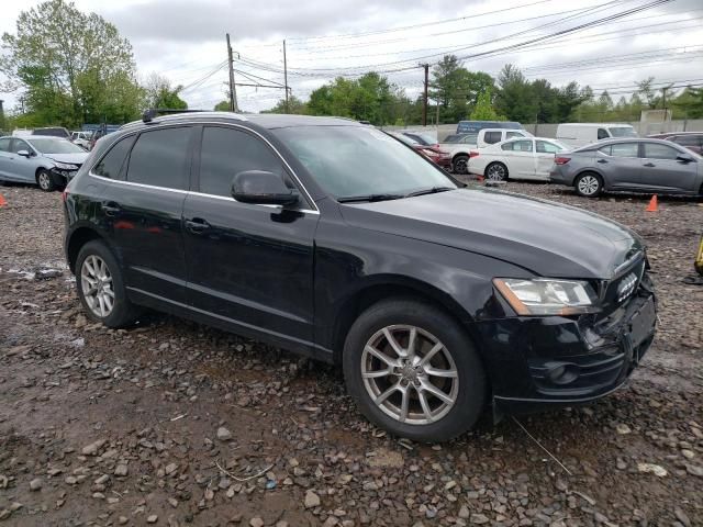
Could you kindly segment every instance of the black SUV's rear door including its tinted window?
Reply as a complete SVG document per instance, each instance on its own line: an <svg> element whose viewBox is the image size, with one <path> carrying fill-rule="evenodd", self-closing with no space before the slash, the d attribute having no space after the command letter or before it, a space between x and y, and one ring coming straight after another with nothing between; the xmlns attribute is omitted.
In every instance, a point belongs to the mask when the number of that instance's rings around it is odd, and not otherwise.
<svg viewBox="0 0 703 527"><path fill-rule="evenodd" d="M132 294L156 301L186 302L186 258L181 232L183 201L190 186L193 127L147 130L115 144L115 159L96 166L112 176L101 208ZM132 144L133 143L133 144ZM119 149L131 149L120 162ZM108 162L109 161L109 162ZM102 161L101 161L102 162Z"/></svg>

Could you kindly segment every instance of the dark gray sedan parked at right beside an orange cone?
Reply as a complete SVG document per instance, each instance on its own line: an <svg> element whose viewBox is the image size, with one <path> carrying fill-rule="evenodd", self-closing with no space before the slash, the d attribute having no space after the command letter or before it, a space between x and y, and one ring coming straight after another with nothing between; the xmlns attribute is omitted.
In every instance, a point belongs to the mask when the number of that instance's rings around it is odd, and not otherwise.
<svg viewBox="0 0 703 527"><path fill-rule="evenodd" d="M557 155L549 180L587 198L603 191L701 195L703 157L662 139L599 141Z"/></svg>

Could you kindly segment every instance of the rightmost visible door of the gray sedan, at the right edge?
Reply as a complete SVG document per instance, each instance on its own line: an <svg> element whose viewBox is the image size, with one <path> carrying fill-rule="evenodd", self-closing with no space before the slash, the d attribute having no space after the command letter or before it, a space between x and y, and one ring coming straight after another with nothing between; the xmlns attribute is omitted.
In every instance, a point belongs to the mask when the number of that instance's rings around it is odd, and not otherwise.
<svg viewBox="0 0 703 527"><path fill-rule="evenodd" d="M681 161L683 149L660 143L641 144L641 184L648 189L693 192L698 178L698 162ZM688 154L690 156L690 154Z"/></svg>

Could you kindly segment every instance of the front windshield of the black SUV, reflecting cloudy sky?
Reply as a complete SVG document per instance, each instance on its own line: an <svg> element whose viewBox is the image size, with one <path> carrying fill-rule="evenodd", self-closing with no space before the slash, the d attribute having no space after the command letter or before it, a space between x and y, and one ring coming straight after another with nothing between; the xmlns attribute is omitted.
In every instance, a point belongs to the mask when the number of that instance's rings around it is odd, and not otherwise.
<svg viewBox="0 0 703 527"><path fill-rule="evenodd" d="M422 155L376 128L294 126L272 132L336 199L458 188Z"/></svg>

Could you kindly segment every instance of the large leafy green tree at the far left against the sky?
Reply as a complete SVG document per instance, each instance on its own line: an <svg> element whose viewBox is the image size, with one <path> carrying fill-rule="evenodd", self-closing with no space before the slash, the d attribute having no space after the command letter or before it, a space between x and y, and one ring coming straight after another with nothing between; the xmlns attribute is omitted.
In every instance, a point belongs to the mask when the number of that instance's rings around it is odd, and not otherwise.
<svg viewBox="0 0 703 527"><path fill-rule="evenodd" d="M15 34L2 35L2 48L0 71L24 90L27 112L42 124L76 126L140 113L132 46L114 25L72 2L48 0L23 11Z"/></svg>

